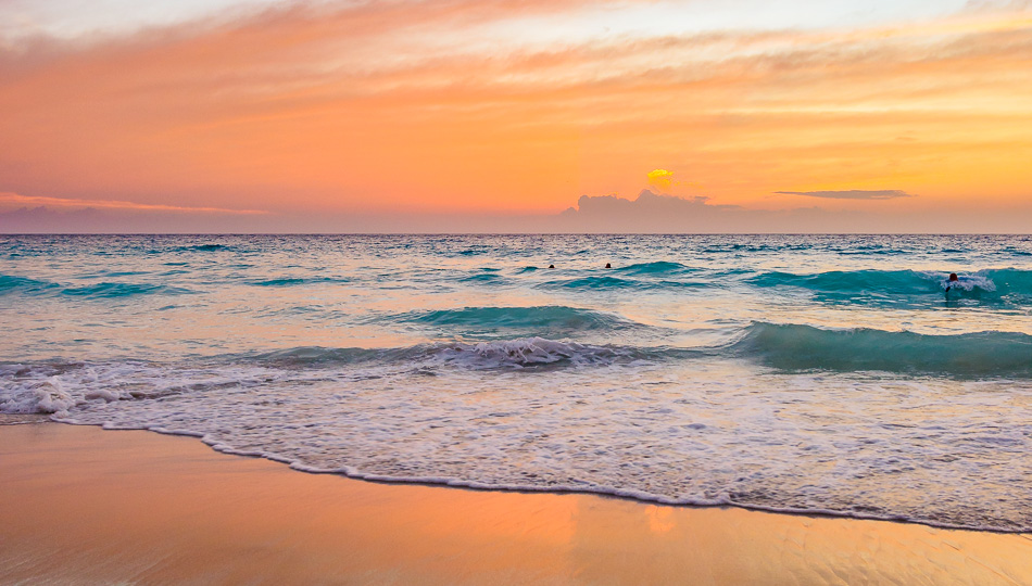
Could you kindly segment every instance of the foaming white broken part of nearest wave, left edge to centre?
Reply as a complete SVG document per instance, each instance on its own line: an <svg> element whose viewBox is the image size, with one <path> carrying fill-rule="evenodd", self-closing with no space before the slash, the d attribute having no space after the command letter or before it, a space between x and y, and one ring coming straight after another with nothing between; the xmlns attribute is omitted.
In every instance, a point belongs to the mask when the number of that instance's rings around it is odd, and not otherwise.
<svg viewBox="0 0 1032 586"><path fill-rule="evenodd" d="M663 351L578 344L543 337L480 343L433 343L395 348L302 346L259 354L225 355L189 365L141 362L0 364L0 413L58 413L91 400L151 399L183 392L256 386L289 380L327 380L322 371L365 367L358 379L435 369L549 370L564 367L633 365Z"/></svg>

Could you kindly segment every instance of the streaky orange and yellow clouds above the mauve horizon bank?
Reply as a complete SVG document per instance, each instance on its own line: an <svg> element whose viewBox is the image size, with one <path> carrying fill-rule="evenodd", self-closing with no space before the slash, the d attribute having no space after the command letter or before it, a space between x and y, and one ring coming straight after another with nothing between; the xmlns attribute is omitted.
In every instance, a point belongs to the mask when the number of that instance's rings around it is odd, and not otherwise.
<svg viewBox="0 0 1032 586"><path fill-rule="evenodd" d="M743 207L792 184L921 194L795 192L828 207L1028 201L1027 3L915 26L659 34L603 25L666 3L603 4L302 2L0 43L0 190L237 214L529 214L633 193L659 169L654 187L691 178Z"/></svg>

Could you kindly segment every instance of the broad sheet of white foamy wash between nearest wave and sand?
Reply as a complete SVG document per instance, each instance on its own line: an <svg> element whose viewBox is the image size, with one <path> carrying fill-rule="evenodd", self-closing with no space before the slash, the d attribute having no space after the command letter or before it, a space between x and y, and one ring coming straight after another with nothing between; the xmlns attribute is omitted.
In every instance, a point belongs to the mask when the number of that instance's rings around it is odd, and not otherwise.
<svg viewBox="0 0 1032 586"><path fill-rule="evenodd" d="M1032 528L1029 382L411 366L23 367L0 405L360 479Z"/></svg>

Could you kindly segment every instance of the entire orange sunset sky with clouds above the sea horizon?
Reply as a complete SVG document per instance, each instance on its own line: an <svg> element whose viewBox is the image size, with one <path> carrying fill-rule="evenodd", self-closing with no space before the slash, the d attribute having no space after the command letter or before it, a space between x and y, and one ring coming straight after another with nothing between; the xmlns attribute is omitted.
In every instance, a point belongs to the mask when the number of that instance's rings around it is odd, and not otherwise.
<svg viewBox="0 0 1032 586"><path fill-rule="evenodd" d="M1029 232L1032 1L0 0L0 231Z"/></svg>

